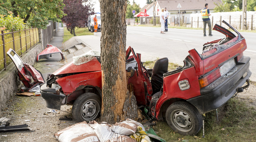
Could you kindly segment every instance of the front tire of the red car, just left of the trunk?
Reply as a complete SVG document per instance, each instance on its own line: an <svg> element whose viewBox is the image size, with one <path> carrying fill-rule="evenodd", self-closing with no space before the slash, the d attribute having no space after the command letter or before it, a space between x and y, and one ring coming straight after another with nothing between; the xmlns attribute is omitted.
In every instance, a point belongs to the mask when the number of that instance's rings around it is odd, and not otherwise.
<svg viewBox="0 0 256 142"><path fill-rule="evenodd" d="M100 115L101 102L101 98L94 93L78 96L72 107L73 119L77 122L95 120Z"/></svg>

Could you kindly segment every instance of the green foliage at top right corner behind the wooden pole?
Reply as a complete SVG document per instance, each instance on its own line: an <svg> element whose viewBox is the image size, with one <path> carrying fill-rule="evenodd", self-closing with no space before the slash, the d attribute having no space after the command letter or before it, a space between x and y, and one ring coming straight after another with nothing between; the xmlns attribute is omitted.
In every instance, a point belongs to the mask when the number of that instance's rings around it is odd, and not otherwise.
<svg viewBox="0 0 256 142"><path fill-rule="evenodd" d="M222 0L222 3L214 3L216 7L214 12L232 12L232 11L242 11L243 0ZM256 10L256 0L247 0L247 11Z"/></svg>

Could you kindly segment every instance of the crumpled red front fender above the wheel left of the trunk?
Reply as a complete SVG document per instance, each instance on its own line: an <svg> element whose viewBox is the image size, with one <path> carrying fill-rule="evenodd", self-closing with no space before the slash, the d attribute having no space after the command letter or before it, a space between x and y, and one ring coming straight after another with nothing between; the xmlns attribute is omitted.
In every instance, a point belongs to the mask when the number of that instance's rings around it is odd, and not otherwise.
<svg viewBox="0 0 256 142"><path fill-rule="evenodd" d="M63 93L69 96L74 91L79 90L80 88L78 87L83 87L88 84L102 88L102 71L70 75L57 79L56 82L62 86Z"/></svg>

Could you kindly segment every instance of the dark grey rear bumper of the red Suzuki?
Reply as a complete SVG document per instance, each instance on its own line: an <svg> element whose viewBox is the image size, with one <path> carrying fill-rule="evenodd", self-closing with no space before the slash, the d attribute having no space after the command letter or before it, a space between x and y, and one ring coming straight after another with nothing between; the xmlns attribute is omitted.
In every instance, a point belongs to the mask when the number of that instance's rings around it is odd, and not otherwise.
<svg viewBox="0 0 256 142"><path fill-rule="evenodd" d="M225 104L236 92L238 87L242 87L252 72L249 70L249 57L244 57L235 68L232 75L223 77L209 84L200 90L201 95L188 99L201 114L210 112ZM243 75L247 75L243 78Z"/></svg>

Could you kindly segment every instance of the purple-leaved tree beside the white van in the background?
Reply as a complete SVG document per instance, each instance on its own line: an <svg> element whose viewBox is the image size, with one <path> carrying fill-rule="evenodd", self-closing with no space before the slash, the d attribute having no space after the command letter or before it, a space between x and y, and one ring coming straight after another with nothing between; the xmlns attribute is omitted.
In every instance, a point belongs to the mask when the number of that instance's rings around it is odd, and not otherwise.
<svg viewBox="0 0 256 142"><path fill-rule="evenodd" d="M67 29L76 36L75 27L83 28L87 25L89 15L94 14L93 5L90 0L63 0L65 16L62 22L67 25Z"/></svg>

